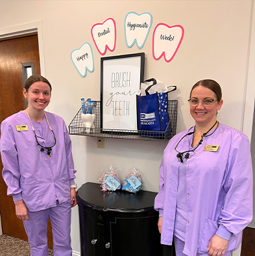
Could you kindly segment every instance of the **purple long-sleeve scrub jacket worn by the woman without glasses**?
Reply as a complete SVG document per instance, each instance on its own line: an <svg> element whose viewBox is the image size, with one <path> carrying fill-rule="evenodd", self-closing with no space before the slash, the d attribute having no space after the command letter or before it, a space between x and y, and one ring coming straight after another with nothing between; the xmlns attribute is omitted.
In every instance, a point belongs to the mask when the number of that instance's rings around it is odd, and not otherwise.
<svg viewBox="0 0 255 256"><path fill-rule="evenodd" d="M31 212L41 211L70 200L70 185L75 184L75 172L71 153L71 140L64 120L46 112L49 125L56 137L51 157L37 146L27 114L20 111L1 123L1 158L3 179L7 194L14 201L23 199ZM42 122L34 122L38 142L53 146L55 140L45 116ZM27 125L28 131L18 131L16 125Z"/></svg>

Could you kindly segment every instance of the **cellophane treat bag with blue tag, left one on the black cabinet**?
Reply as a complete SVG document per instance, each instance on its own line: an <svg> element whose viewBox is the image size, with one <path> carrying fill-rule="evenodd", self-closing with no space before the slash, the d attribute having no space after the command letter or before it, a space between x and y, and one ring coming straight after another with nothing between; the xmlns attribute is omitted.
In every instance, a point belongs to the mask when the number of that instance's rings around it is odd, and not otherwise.
<svg viewBox="0 0 255 256"><path fill-rule="evenodd" d="M101 191L115 191L121 189L121 182L117 174L117 167L111 164L109 169L103 169L102 175L97 181L101 182Z"/></svg>

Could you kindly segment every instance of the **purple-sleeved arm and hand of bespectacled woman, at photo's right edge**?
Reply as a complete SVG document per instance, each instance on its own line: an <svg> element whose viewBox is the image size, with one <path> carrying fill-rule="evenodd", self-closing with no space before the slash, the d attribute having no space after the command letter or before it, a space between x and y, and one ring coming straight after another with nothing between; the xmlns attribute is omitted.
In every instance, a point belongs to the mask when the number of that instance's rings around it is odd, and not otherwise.
<svg viewBox="0 0 255 256"><path fill-rule="evenodd" d="M208 255L224 254L230 236L237 235L252 220L252 163L249 140L244 134L233 140L223 188L225 204L219 229L208 244Z"/></svg>

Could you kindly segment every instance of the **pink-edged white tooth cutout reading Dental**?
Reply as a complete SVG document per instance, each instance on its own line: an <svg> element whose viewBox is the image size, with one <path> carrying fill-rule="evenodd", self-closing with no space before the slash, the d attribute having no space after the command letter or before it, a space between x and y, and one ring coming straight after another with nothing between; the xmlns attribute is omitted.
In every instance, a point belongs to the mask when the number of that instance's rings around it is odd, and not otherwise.
<svg viewBox="0 0 255 256"><path fill-rule="evenodd" d="M91 28L91 35L101 55L105 55L106 50L114 51L116 45L116 24L114 19L109 18L104 23L97 23Z"/></svg>

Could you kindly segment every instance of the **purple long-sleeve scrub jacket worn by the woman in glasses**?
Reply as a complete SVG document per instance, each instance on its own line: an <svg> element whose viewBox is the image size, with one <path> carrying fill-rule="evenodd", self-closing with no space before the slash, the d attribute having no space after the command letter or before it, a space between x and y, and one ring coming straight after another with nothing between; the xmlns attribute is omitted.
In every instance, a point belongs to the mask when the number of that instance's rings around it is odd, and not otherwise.
<svg viewBox="0 0 255 256"><path fill-rule="evenodd" d="M189 129L193 131L194 127ZM242 231L252 220L252 160L247 136L219 124L189 159L178 161L176 144L188 131L176 134L165 148L160 165L160 188L154 207L162 219L161 243L173 242L178 172L186 167L188 217L184 253L195 256L207 253L210 239L221 228L230 233L226 251L237 250ZM192 135L178 145L180 152L189 150ZM219 146L216 152L204 151L207 145ZM224 233L224 232L221 232ZM218 235L218 234L217 234Z"/></svg>

